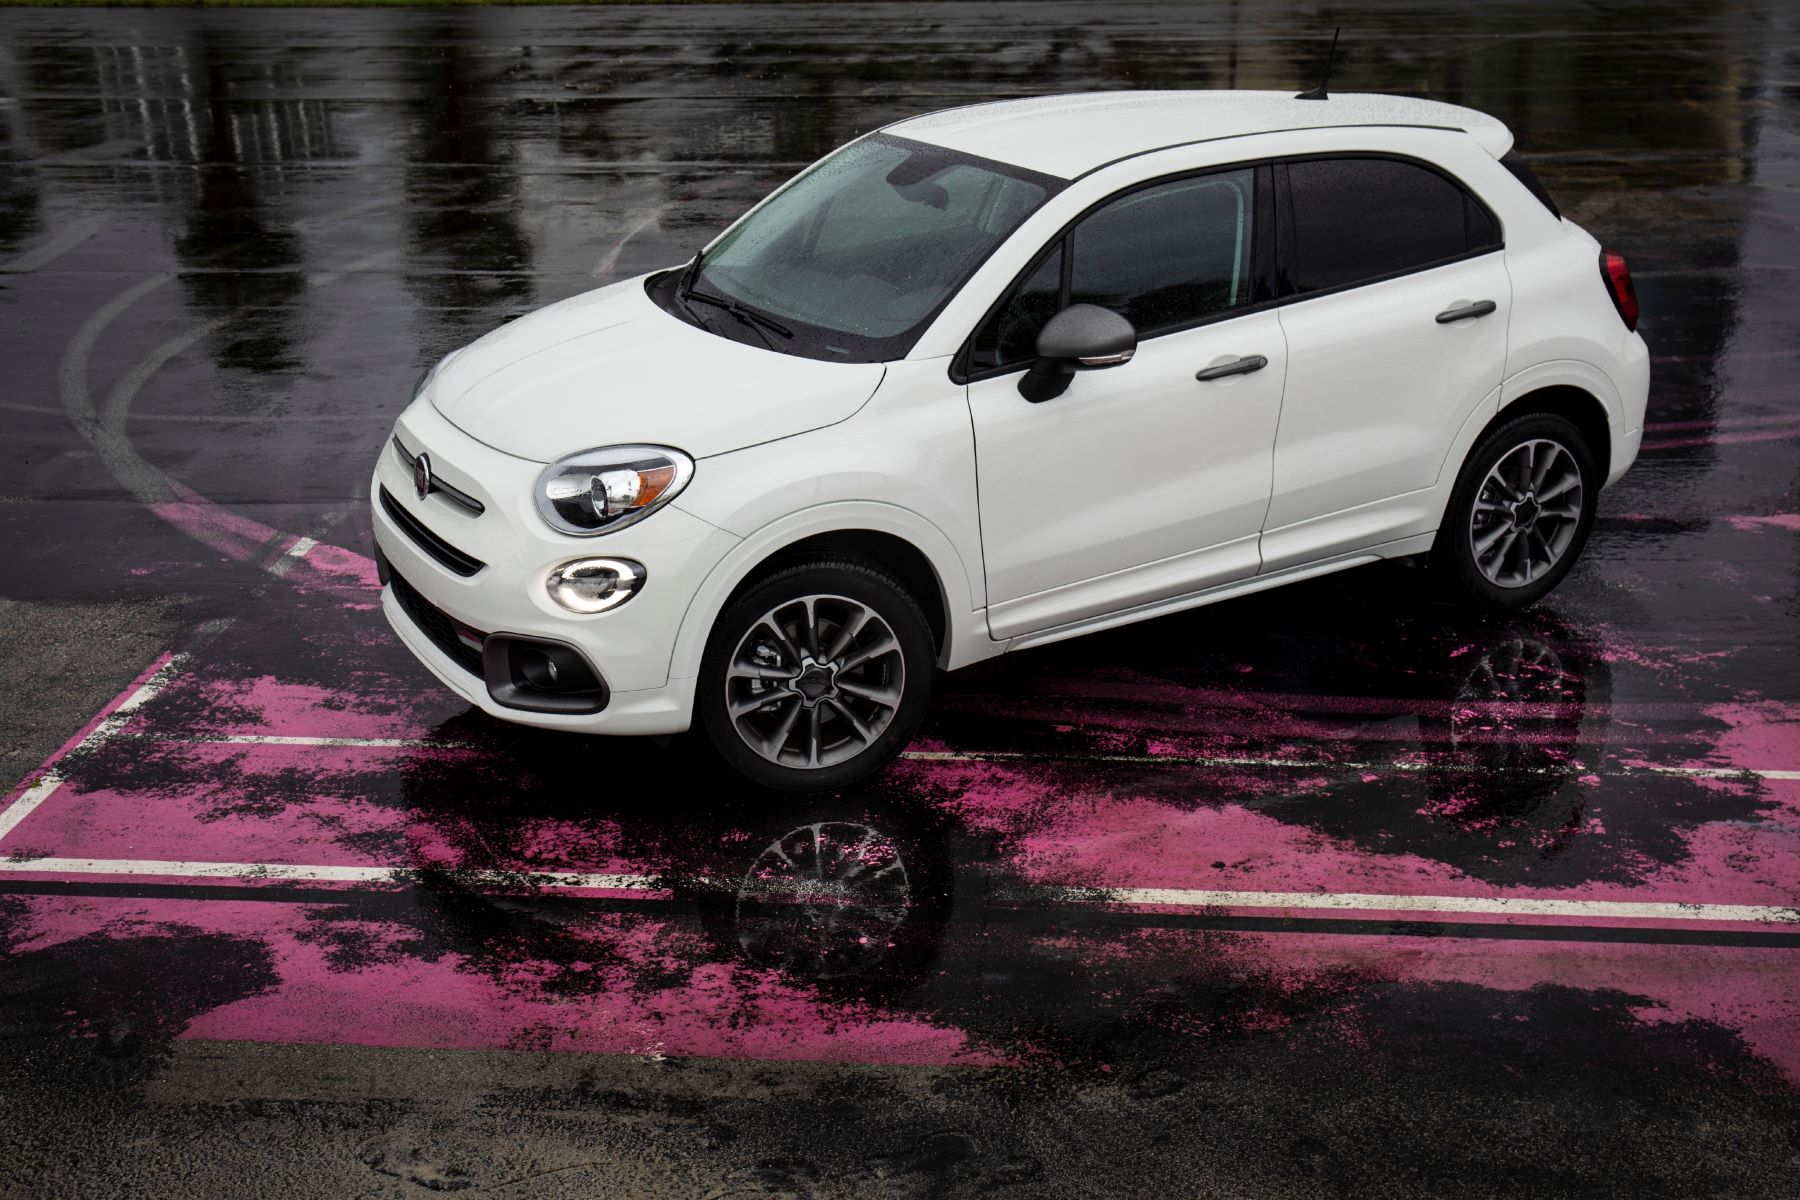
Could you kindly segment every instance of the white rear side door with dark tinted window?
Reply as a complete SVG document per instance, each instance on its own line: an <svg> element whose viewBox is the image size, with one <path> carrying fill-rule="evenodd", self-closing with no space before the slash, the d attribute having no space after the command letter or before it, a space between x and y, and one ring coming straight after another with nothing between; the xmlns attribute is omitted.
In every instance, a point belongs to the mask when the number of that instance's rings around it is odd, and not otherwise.
<svg viewBox="0 0 1800 1200"><path fill-rule="evenodd" d="M1287 390L1262 569L1435 525L1463 423L1498 403L1512 286L1496 218L1413 158L1274 167Z"/></svg>

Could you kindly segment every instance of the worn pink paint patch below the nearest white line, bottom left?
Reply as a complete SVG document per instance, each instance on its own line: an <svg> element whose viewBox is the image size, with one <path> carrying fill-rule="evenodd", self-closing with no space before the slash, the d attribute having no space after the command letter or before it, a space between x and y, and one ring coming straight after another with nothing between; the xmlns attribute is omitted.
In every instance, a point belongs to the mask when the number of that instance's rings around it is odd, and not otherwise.
<svg viewBox="0 0 1800 1200"><path fill-rule="evenodd" d="M279 982L196 1016L185 1038L540 1049L891 1065L1001 1065L954 1025L832 1000L776 972L713 963L709 943L659 919L596 916L556 963L416 950L333 961L310 909L248 901L32 900L29 954L85 934L133 937L178 923L263 945ZM405 946L409 925L373 925ZM369 928L358 928L369 934ZM583 950L587 946L587 950ZM581 957L585 955L585 959ZM572 986L572 977L583 977ZM554 986L551 981L554 979ZM646 982L653 979L653 982Z"/></svg>

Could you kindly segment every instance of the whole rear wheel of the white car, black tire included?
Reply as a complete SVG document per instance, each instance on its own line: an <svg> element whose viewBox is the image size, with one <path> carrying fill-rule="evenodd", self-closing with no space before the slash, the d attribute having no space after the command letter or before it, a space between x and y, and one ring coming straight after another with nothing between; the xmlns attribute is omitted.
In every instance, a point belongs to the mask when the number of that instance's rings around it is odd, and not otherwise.
<svg viewBox="0 0 1800 1200"><path fill-rule="evenodd" d="M1454 597L1485 608L1541 599L1588 543L1600 482L1573 421L1546 412L1507 421L1476 444L1456 477L1431 547L1438 579Z"/></svg>

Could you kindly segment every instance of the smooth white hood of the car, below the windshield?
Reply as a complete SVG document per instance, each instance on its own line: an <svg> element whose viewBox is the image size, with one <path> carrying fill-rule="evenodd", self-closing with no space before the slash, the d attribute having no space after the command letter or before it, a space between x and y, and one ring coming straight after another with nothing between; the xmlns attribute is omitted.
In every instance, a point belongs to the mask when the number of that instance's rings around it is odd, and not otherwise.
<svg viewBox="0 0 1800 1200"><path fill-rule="evenodd" d="M520 459L626 443L704 459L835 425L882 374L880 363L817 362L706 333L632 279L472 342L445 360L428 396L464 434Z"/></svg>

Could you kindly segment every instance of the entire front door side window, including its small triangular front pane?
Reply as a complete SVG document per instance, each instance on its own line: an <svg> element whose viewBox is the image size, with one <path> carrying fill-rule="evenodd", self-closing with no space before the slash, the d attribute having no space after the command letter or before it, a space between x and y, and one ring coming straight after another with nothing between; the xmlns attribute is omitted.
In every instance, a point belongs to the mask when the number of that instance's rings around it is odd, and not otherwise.
<svg viewBox="0 0 1800 1200"><path fill-rule="evenodd" d="M1156 184L1096 209L981 326L970 371L1030 362L1039 329L1067 304L1111 308L1141 338L1251 304L1253 201L1255 171L1244 169Z"/></svg>

